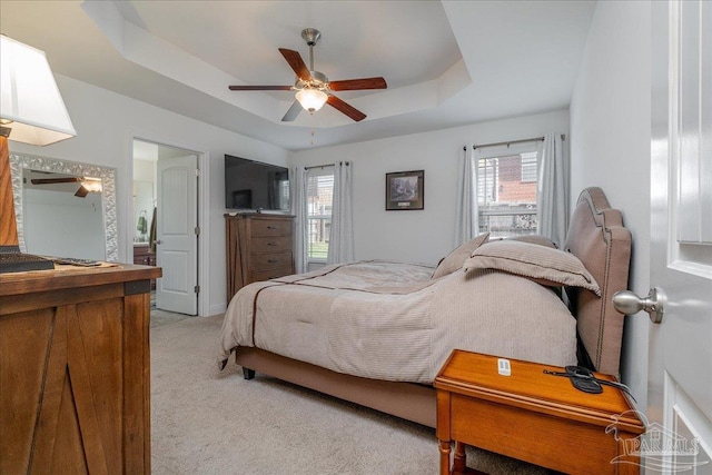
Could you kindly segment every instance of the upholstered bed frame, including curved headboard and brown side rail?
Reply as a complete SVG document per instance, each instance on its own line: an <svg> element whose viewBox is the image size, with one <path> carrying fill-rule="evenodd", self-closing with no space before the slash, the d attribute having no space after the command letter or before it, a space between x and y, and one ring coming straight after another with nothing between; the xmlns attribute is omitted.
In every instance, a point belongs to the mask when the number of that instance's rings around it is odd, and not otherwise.
<svg viewBox="0 0 712 475"><path fill-rule="evenodd" d="M601 287L601 297L566 289L577 320L580 364L619 375L623 315L613 308L611 297L627 288L631 232L600 188L581 192L563 248L581 259ZM236 348L235 362L246 379L258 372L429 427L436 424L431 385L350 376L254 347Z"/></svg>

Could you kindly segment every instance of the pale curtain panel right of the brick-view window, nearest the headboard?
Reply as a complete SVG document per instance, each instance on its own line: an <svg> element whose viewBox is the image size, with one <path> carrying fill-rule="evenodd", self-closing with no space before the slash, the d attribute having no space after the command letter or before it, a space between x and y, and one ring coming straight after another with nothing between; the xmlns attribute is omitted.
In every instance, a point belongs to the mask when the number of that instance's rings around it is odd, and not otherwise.
<svg viewBox="0 0 712 475"><path fill-rule="evenodd" d="M568 227L568 161L562 135L545 133L538 156L538 234L548 237L561 248Z"/></svg>

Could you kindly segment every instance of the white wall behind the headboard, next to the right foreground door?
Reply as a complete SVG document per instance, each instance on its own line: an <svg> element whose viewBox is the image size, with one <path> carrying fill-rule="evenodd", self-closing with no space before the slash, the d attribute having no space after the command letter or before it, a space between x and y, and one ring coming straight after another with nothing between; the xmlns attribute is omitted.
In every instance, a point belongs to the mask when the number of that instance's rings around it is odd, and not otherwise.
<svg viewBox="0 0 712 475"><path fill-rule="evenodd" d="M599 2L571 102L572 189L600 186L633 234L630 288L650 288L651 7ZM645 314L626 317L622 378L646 407Z"/></svg>

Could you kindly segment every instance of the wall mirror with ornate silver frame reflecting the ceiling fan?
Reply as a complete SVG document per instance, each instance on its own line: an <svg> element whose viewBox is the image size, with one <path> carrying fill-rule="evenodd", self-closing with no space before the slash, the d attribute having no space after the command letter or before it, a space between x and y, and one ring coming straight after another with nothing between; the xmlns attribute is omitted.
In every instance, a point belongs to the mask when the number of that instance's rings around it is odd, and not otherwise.
<svg viewBox="0 0 712 475"><path fill-rule="evenodd" d="M18 238L20 249L23 253L50 255L58 257L82 257L89 259L118 261L118 224L116 215L116 169L100 167L97 165L79 164L68 160L58 160L47 157L36 157L23 154L10 154L10 169L12 172L12 195L14 198L14 212L18 224ZM67 179L77 178L75 182ZM44 191L38 191L38 185L32 186L32 179L50 179L57 181L69 181L61 185L40 185ZM27 186L23 184L27 179ZM100 180L100 181L99 181ZM91 192L89 188L95 182L100 182L100 192ZM69 188L71 192L68 192ZM80 190L80 188L85 188ZM55 192L56 195L51 195ZM51 210L46 205L47 197L42 194L50 194L56 197L51 200ZM80 196L83 195L83 198ZM99 198L100 197L100 198ZM27 199L27 202L26 202ZM71 204L71 206L61 205ZM32 215L30 215L32 214ZM39 216L38 216L39 215ZM70 222L73 222L69 225ZM101 253L103 256L95 255L66 255L71 253L67 247L57 244L51 248L51 231L38 230L38 226L56 226L61 232L65 245L73 245L82 238L97 236L98 239L86 246L86 253ZM61 226L67 227L61 228ZM37 236L29 236L29 232L42 232L43 238L36 240ZM55 231L55 232L57 232ZM27 235L26 235L27 232ZM102 232L102 236L100 236ZM72 235L76 234L76 235ZM91 239L91 238L90 238ZM33 250L28 248L32 243L41 243L42 247ZM38 246L37 244L34 245ZM49 246L49 247L47 247ZM83 246L83 245L82 245Z"/></svg>

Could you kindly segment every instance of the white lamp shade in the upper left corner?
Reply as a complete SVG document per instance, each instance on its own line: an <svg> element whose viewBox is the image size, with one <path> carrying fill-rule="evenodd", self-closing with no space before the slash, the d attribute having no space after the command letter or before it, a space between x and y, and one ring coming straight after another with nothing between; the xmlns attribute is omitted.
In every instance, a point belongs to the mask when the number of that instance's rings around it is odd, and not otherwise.
<svg viewBox="0 0 712 475"><path fill-rule="evenodd" d="M0 119L11 129L9 139L46 146L75 137L44 52L6 36L0 40Z"/></svg>

